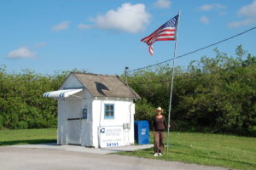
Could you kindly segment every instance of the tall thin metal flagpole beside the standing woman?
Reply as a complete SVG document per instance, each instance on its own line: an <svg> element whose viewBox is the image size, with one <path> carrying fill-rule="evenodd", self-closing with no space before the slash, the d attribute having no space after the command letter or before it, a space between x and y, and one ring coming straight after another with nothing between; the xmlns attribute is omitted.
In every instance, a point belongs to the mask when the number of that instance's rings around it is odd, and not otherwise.
<svg viewBox="0 0 256 170"><path fill-rule="evenodd" d="M179 25L179 18L180 18L180 10L178 11L177 17L177 28L176 28L176 37L175 37L175 45L174 45L174 55L172 59L172 83L171 83L171 92L170 92L170 103L169 103L169 112L168 112L168 135L167 135L167 155L169 154L169 133L170 133L170 119L171 119L171 111L172 111L172 88L173 88L173 79L174 79L174 65L176 59L176 49L177 49L177 32L178 32L178 25Z"/></svg>

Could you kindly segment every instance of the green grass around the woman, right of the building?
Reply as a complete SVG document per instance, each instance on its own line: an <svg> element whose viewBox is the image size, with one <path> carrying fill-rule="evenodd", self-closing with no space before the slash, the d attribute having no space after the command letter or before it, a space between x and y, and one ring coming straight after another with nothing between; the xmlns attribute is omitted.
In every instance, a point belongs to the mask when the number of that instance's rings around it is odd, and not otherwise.
<svg viewBox="0 0 256 170"><path fill-rule="evenodd" d="M150 142L153 143L152 135L150 135ZM119 152L119 154L236 169L256 169L256 138L211 133L172 132L170 133L168 155L166 148L164 155L158 157L153 156L153 148Z"/></svg>

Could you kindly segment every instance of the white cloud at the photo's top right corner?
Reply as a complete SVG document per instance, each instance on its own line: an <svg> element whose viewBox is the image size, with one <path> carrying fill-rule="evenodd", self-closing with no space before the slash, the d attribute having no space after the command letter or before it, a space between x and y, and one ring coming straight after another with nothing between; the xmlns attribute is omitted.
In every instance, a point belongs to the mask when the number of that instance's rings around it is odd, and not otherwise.
<svg viewBox="0 0 256 170"><path fill-rule="evenodd" d="M244 20L233 21L228 24L230 27L249 26L256 23L256 1L252 4L241 7L238 11L238 15L245 17Z"/></svg>

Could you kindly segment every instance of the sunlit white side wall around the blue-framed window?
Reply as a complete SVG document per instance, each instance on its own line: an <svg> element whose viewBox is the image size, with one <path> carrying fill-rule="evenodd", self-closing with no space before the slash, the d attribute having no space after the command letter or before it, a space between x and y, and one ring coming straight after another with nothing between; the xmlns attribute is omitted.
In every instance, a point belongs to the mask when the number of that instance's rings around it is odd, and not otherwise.
<svg viewBox="0 0 256 170"><path fill-rule="evenodd" d="M114 118L104 118L104 104L114 104ZM98 127L100 126L123 126L130 123L131 128L125 129L125 144L134 144L134 113L135 105L131 99L95 98L92 101L92 137L93 146L98 147Z"/></svg>

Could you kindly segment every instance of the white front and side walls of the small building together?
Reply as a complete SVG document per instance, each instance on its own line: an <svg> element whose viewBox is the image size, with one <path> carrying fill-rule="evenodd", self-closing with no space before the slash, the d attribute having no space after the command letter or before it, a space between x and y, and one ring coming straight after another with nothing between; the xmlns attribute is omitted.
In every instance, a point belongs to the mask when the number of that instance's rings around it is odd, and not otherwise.
<svg viewBox="0 0 256 170"><path fill-rule="evenodd" d="M73 74L67 77L60 89L84 88ZM104 104L114 104L114 119L104 118ZM124 130L125 144L134 144L134 113L132 99L96 98L84 90L67 99L58 99L58 138L57 144L67 144L67 118L82 117L87 108L87 120L81 121L81 145L98 147L98 128L100 126L123 126L130 123L130 129Z"/></svg>

